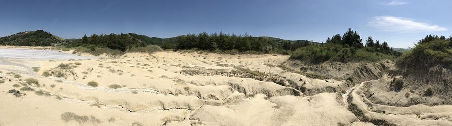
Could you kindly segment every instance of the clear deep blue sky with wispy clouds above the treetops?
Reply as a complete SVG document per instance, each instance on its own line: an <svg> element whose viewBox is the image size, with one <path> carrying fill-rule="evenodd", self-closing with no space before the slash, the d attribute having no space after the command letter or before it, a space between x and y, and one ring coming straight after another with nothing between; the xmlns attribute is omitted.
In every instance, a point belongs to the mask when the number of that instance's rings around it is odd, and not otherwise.
<svg viewBox="0 0 452 126"><path fill-rule="evenodd" d="M348 28L408 48L452 35L452 0L0 0L0 36L42 29L63 38L224 32L326 41Z"/></svg>

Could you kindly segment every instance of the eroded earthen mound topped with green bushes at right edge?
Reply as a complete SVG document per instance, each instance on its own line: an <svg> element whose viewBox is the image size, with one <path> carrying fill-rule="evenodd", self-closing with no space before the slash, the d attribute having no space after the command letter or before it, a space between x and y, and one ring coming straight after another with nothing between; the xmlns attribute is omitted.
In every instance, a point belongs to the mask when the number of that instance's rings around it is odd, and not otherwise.
<svg viewBox="0 0 452 126"><path fill-rule="evenodd" d="M430 39L432 38L432 39ZM392 106L452 104L452 39L427 36L403 54L370 91L369 100ZM397 99L387 101L385 99Z"/></svg>

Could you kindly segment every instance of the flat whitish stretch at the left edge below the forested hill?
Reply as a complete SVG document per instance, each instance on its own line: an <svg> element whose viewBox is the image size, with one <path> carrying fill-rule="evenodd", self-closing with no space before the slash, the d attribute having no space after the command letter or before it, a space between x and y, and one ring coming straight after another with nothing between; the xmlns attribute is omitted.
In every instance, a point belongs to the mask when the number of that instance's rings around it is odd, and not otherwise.
<svg viewBox="0 0 452 126"><path fill-rule="evenodd" d="M61 53L55 50L0 49L0 58L19 59L94 59L96 57Z"/></svg>

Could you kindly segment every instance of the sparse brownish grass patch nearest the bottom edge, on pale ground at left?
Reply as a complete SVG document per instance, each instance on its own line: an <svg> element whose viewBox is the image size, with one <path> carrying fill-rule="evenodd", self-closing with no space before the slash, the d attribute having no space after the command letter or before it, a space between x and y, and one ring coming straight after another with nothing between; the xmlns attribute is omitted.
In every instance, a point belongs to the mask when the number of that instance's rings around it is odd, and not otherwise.
<svg viewBox="0 0 452 126"><path fill-rule="evenodd" d="M61 114L61 119L66 123L70 122L70 121L76 121L81 125L84 125L85 123L88 123L88 122L93 125L100 124L100 120L94 116L86 116L86 115L79 116L72 112L65 112L65 113Z"/></svg>

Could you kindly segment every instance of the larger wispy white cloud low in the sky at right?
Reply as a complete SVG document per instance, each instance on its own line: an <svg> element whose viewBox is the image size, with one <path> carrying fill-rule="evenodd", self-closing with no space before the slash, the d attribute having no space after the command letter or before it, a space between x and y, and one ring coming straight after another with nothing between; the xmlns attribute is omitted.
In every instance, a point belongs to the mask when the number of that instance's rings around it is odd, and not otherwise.
<svg viewBox="0 0 452 126"><path fill-rule="evenodd" d="M381 31L397 33L438 32L449 30L435 24L416 22L413 19L394 16L375 16L368 24Z"/></svg>

